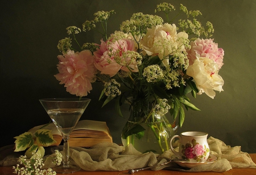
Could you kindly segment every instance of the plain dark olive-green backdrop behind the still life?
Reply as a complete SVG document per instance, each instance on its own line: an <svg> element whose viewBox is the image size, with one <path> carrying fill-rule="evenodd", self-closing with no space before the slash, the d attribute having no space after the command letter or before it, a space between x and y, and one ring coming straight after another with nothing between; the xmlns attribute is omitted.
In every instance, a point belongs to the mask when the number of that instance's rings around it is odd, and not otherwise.
<svg viewBox="0 0 256 175"><path fill-rule="evenodd" d="M14 136L35 125L49 122L39 103L48 97L73 97L53 76L57 74L56 45L67 37L65 28L81 28L99 10L115 10L109 20L109 32L134 12L154 14L157 4L169 2L179 8L200 10L202 21L213 23L214 41L225 50L224 66L219 74L225 81L224 92L214 100L203 94L192 103L201 112L189 110L181 131L205 131L242 151L256 152L256 1L184 0L184 1L5 1L0 11L0 147L14 143ZM100 42L95 32L83 33L80 42ZM75 45L75 43L73 43ZM102 84L93 84L87 96L92 99L81 119L106 121L115 143L121 143L126 118L114 113L114 105L101 108L98 97Z"/></svg>

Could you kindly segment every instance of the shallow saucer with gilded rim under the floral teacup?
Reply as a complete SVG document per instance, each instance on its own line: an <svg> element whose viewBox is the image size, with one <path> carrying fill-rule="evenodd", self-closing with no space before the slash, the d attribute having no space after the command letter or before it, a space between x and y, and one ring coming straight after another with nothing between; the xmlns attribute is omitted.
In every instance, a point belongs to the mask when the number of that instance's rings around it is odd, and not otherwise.
<svg viewBox="0 0 256 175"><path fill-rule="evenodd" d="M214 163L215 161L217 161L217 159L218 159L218 157L216 157L214 155L209 155L209 158L204 163L188 163L188 161L177 159L177 157L175 155L172 155L171 157L172 157L172 159L174 159L173 162L180 165L180 167L184 167L184 168L193 168L193 167L197 167L199 165L211 164L211 163Z"/></svg>

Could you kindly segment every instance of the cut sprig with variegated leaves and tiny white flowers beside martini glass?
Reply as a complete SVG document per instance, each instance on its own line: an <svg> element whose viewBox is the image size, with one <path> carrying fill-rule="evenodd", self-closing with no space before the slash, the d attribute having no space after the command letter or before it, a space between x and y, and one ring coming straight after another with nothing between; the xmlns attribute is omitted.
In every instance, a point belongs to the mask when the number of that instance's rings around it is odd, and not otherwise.
<svg viewBox="0 0 256 175"><path fill-rule="evenodd" d="M44 127L44 126L43 126ZM43 128L42 127L42 128ZM13 167L14 173L20 175L54 175L56 174L51 168L42 169L44 166L43 156L44 147L51 146L56 141L53 139L51 130L39 129L35 134L26 132L15 136L15 152L24 151L25 155L21 155L18 159L19 164ZM60 165L62 162L62 155L58 150L55 150L55 158L52 160L53 164Z"/></svg>

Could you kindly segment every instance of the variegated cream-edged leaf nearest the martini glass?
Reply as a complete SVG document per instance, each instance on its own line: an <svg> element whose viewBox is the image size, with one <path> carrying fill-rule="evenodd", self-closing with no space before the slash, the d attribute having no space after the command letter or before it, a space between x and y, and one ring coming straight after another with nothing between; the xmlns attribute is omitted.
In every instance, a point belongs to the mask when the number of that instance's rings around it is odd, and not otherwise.
<svg viewBox="0 0 256 175"><path fill-rule="evenodd" d="M56 141L53 139L51 130L39 129L35 132L35 136L38 146L47 147L53 143L56 143Z"/></svg>

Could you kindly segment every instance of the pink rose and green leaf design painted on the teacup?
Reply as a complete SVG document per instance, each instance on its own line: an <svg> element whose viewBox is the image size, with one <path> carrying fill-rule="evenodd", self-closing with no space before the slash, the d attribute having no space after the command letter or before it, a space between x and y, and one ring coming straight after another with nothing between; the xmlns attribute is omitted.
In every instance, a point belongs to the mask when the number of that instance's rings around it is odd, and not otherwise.
<svg viewBox="0 0 256 175"><path fill-rule="evenodd" d="M203 146L196 142L195 139L192 139L191 143L186 143L185 145L181 145L181 153L183 154L182 159L185 160L196 160L200 162L201 159L206 159L207 152L209 152L209 148L207 146Z"/></svg>

